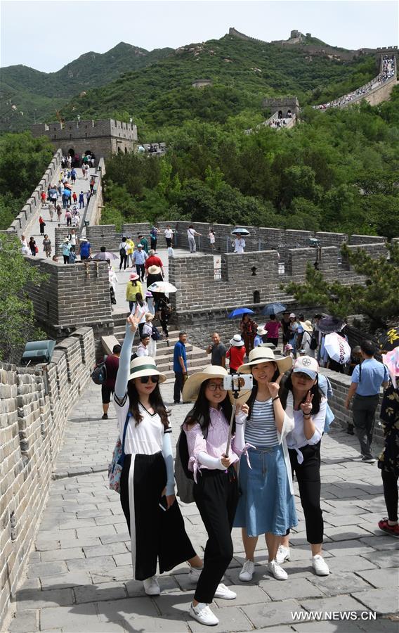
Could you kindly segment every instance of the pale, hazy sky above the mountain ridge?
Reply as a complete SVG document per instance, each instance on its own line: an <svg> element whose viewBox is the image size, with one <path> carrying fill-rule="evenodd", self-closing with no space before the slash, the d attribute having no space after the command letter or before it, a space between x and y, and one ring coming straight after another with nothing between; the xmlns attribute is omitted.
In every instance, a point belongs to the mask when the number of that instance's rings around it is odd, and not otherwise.
<svg viewBox="0 0 399 633"><path fill-rule="evenodd" d="M1 66L53 72L119 41L152 50L223 37L229 27L270 41L292 29L333 46L398 44L395 0L1 0Z"/></svg>

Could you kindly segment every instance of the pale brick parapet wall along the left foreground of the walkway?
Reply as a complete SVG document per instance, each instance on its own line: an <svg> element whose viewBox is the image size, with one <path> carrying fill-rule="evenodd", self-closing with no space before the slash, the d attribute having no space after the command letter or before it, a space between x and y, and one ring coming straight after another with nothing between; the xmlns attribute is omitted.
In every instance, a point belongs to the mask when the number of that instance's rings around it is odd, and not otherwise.
<svg viewBox="0 0 399 633"><path fill-rule="evenodd" d="M94 362L93 331L78 328L49 364L0 363L0 622L30 553L67 416Z"/></svg>

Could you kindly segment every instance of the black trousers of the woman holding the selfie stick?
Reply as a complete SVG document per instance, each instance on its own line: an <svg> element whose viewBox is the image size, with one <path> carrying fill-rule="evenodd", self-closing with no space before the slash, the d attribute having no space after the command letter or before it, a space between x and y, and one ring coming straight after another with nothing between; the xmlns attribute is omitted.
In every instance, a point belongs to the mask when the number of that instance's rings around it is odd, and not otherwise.
<svg viewBox="0 0 399 633"><path fill-rule="evenodd" d="M198 602L210 604L233 558L231 530L238 503L235 468L230 466L227 471L202 468L193 494L208 532L204 569L199 576L194 598Z"/></svg>

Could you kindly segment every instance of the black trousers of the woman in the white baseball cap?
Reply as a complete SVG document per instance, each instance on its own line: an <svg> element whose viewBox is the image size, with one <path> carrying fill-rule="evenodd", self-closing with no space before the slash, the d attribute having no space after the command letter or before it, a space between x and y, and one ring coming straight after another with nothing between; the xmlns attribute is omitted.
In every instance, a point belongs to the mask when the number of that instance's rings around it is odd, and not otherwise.
<svg viewBox="0 0 399 633"><path fill-rule="evenodd" d="M292 477L294 473L299 485L301 506L305 515L306 538L312 545L323 542L324 523L320 508L320 442L306 445L299 449L303 454L303 462L298 463L295 450L289 449Z"/></svg>

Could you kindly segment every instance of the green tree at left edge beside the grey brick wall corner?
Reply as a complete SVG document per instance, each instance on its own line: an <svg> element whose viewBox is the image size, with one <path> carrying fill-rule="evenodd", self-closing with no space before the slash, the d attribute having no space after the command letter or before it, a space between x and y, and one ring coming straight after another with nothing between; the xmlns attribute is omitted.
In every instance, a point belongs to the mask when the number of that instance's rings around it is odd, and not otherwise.
<svg viewBox="0 0 399 633"><path fill-rule="evenodd" d="M45 337L34 319L34 309L25 288L39 286L44 276L28 264L18 238L0 234L0 359L20 362L27 340Z"/></svg>

